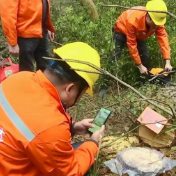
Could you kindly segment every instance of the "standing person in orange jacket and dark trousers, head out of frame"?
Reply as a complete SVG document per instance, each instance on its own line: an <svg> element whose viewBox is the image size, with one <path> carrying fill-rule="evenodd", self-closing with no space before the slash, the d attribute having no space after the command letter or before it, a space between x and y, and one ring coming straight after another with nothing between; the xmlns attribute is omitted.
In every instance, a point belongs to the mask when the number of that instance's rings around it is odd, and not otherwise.
<svg viewBox="0 0 176 176"><path fill-rule="evenodd" d="M49 56L49 39L54 39L49 0L1 0L0 12L10 54L19 55L20 71L43 70ZM49 38L48 38L49 36Z"/></svg>

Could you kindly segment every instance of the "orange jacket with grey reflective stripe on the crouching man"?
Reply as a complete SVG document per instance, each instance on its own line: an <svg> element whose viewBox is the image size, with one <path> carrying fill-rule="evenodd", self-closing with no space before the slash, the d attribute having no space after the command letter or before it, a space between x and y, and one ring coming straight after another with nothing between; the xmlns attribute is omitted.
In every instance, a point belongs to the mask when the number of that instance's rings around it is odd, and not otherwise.
<svg viewBox="0 0 176 176"><path fill-rule="evenodd" d="M38 71L0 84L0 176L82 176L98 146L71 145L71 118L58 92Z"/></svg>

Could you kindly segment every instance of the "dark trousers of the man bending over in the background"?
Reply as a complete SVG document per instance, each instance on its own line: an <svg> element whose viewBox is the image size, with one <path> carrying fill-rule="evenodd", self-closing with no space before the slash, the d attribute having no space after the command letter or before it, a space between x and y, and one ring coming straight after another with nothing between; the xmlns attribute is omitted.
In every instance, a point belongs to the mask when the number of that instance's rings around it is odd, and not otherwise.
<svg viewBox="0 0 176 176"><path fill-rule="evenodd" d="M126 35L118 32L114 32L114 40L115 40L115 57L118 58L121 55L121 51L126 46L127 38ZM137 39L137 49L141 58L142 64L149 69L150 68L150 56L145 43L145 40Z"/></svg>

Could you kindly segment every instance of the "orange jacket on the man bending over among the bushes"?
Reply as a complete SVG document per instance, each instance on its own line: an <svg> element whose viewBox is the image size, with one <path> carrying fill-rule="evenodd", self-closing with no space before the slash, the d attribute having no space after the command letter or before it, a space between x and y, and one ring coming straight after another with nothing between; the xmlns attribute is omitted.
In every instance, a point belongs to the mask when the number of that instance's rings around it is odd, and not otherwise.
<svg viewBox="0 0 176 176"><path fill-rule="evenodd" d="M133 8L146 9L142 6ZM138 53L136 39L146 39L154 33L160 45L163 58L170 59L170 47L165 27L157 26L156 29L148 30L146 27L146 14L146 11L126 10L118 17L114 27L115 31L126 35L129 53L137 65L141 64L141 59Z"/></svg>

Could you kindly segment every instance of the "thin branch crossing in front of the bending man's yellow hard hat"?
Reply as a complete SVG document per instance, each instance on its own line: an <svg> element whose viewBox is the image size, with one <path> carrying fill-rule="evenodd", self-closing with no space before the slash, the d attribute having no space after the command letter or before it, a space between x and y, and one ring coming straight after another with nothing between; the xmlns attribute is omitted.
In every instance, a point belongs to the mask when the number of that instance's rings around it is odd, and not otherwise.
<svg viewBox="0 0 176 176"><path fill-rule="evenodd" d="M176 19L176 16L173 13L166 12L166 11L159 11L159 10L145 10L145 9L138 9L133 7L125 7L121 5L106 5L106 4L100 4L102 7L120 7L123 9L130 9L130 10L139 10L139 11L145 11L145 12L155 12L155 13L166 13L167 15L170 15L174 19Z"/></svg>

